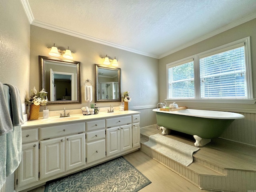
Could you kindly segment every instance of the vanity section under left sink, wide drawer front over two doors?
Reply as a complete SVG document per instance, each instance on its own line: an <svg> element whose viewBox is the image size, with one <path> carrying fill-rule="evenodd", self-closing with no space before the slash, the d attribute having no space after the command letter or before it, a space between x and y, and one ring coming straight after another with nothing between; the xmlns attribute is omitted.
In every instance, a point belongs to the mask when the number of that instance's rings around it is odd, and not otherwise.
<svg viewBox="0 0 256 192"><path fill-rule="evenodd" d="M40 179L85 165L84 132L84 123L40 128Z"/></svg>

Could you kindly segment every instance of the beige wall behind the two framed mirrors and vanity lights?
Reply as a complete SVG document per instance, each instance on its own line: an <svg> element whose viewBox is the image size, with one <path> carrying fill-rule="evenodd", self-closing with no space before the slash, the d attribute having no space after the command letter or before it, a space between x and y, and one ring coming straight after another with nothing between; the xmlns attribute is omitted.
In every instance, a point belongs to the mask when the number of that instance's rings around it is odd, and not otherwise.
<svg viewBox="0 0 256 192"><path fill-rule="evenodd" d="M121 68L121 94L130 91L129 96L132 101L129 107L143 108L147 105L158 103L158 59L142 56L125 50L120 50L110 46L98 44L74 36L69 36L52 30L47 30L37 26L31 26L30 36L30 88L36 86L39 89L39 67L38 55L49 56L47 46L70 47L74 51L74 59L81 62L81 89L82 104L65 105L66 109L79 109L82 106L90 106L84 100L84 81L92 80L93 93L95 88L94 64L102 64L100 56L108 54L110 57L116 56L119 68ZM94 94L92 103L94 103ZM97 103L98 107L108 107L120 105L120 102ZM48 106L49 110L62 110L64 105ZM43 107L40 109L43 110Z"/></svg>

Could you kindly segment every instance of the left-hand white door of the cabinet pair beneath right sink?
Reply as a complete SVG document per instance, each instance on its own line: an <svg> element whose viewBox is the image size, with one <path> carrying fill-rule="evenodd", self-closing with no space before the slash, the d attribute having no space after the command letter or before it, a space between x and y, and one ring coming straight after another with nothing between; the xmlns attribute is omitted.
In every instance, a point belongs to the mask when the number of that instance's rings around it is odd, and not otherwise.
<svg viewBox="0 0 256 192"><path fill-rule="evenodd" d="M107 156L120 152L120 127L106 129Z"/></svg>

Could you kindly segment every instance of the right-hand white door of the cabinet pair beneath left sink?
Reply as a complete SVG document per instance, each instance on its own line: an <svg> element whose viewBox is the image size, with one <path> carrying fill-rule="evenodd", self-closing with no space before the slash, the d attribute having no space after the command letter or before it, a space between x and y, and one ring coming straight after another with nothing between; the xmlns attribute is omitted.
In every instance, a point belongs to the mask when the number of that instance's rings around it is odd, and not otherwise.
<svg viewBox="0 0 256 192"><path fill-rule="evenodd" d="M66 136L66 171L85 165L85 133Z"/></svg>

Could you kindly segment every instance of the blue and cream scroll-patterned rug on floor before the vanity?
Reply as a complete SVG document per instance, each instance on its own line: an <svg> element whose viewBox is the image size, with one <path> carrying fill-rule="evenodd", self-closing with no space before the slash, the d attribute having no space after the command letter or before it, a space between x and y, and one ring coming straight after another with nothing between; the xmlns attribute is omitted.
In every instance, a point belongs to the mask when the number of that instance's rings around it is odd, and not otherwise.
<svg viewBox="0 0 256 192"><path fill-rule="evenodd" d="M120 157L47 182L44 192L137 192L150 183L130 162Z"/></svg>

